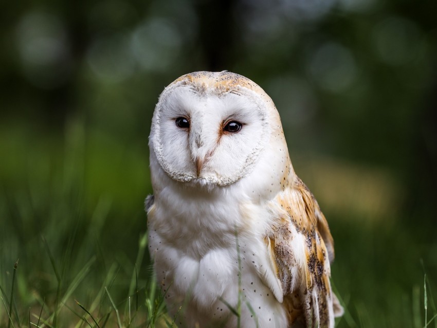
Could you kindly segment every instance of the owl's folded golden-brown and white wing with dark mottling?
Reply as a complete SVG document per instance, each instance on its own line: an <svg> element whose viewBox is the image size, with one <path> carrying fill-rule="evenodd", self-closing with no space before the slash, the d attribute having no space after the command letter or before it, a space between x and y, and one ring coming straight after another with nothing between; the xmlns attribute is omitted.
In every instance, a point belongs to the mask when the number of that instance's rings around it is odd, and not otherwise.
<svg viewBox="0 0 437 328"><path fill-rule="evenodd" d="M334 317L343 313L329 280L334 242L316 199L296 176L271 209L276 223L266 244L290 325L334 327Z"/></svg>

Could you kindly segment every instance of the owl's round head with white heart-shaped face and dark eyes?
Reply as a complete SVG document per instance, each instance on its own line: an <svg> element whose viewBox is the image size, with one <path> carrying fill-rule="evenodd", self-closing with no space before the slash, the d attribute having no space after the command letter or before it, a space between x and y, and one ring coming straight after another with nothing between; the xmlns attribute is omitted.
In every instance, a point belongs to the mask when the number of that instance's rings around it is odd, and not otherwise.
<svg viewBox="0 0 437 328"><path fill-rule="evenodd" d="M149 145L173 180L227 186L253 170L272 135L282 137L282 126L260 86L228 71L201 71L163 90Z"/></svg>

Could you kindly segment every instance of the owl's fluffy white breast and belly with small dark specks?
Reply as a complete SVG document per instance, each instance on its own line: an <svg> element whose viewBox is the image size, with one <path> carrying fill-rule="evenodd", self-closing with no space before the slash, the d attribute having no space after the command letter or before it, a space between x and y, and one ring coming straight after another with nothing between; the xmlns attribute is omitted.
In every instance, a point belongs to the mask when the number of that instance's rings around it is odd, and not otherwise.
<svg viewBox="0 0 437 328"><path fill-rule="evenodd" d="M239 297L256 312L243 306L242 327L257 326L254 318L258 326L285 326L282 304L266 284L272 274L263 239L269 214L248 194L241 186L205 193L171 181L155 189L149 250L170 313L186 304L179 312L185 326L223 326L223 320L236 326L223 300L236 307Z"/></svg>

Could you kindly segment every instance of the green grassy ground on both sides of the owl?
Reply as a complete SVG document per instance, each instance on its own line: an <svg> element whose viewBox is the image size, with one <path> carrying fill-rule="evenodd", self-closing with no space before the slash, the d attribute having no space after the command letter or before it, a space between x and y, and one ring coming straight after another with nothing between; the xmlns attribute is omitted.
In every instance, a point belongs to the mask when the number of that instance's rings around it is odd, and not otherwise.
<svg viewBox="0 0 437 328"><path fill-rule="evenodd" d="M145 251L145 141L120 141L80 121L59 139L0 131L8 154L0 171L0 326L171 325ZM400 223L402 192L384 174L372 183L379 171L296 157L336 243L333 284L346 310L337 326L437 327L435 227L421 227L420 217L411 218L416 229ZM356 176L365 171L363 185ZM324 180L331 175L337 182Z"/></svg>

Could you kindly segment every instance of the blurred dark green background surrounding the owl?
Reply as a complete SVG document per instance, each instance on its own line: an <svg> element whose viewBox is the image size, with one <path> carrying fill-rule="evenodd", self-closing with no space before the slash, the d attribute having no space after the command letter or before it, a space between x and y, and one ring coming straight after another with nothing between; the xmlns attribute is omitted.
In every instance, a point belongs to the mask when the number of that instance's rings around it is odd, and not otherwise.
<svg viewBox="0 0 437 328"><path fill-rule="evenodd" d="M150 320L140 241L154 105L180 75L224 69L274 100L330 223L337 326L425 326L425 273L427 320L437 314L436 4L3 3L0 326L12 286L15 326L43 304L47 326L87 326L75 299L116 326L104 286L125 325L138 286L135 326Z"/></svg>

